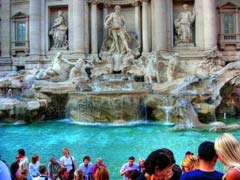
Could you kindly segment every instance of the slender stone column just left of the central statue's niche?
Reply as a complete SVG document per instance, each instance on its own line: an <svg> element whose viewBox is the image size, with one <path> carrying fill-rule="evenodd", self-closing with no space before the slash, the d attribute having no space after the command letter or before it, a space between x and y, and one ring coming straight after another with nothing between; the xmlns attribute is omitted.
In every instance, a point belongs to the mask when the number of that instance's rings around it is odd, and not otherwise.
<svg viewBox="0 0 240 180"><path fill-rule="evenodd" d="M91 53L98 53L97 2L91 1Z"/></svg>

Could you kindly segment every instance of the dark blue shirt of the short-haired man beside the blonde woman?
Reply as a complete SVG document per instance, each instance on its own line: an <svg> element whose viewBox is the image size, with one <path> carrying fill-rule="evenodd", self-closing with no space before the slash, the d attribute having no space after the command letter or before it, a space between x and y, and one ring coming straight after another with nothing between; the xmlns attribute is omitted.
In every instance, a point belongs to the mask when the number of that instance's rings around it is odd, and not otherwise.
<svg viewBox="0 0 240 180"><path fill-rule="evenodd" d="M199 169L183 173L180 180L222 180L223 173L218 171L205 172Z"/></svg>

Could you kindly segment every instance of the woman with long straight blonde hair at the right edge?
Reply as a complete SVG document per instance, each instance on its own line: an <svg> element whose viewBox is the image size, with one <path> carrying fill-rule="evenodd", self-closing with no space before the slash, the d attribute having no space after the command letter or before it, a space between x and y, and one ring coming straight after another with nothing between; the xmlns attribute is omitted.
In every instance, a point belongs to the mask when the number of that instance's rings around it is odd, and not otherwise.
<svg viewBox="0 0 240 180"><path fill-rule="evenodd" d="M230 133L224 133L216 138L215 149L218 159L223 163L227 172L224 180L240 179L240 144Z"/></svg>

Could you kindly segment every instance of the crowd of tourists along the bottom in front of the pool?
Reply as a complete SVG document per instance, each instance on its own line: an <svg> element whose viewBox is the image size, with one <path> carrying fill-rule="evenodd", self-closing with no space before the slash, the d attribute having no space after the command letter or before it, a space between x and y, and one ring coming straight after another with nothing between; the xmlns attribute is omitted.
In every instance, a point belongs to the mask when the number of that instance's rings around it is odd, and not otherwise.
<svg viewBox="0 0 240 180"><path fill-rule="evenodd" d="M39 163L38 155L31 162L24 149L19 149L16 161L10 168L0 160L0 180L109 180L107 166L102 158L91 163L89 156L77 167L75 158L68 148L63 148L58 160L51 157L48 166ZM226 172L215 170L219 160ZM130 156L120 168L123 180L240 180L240 144L230 133L224 133L215 142L204 141L198 147L195 157L185 153L181 165L177 165L170 149L161 148L151 152L146 159Z"/></svg>

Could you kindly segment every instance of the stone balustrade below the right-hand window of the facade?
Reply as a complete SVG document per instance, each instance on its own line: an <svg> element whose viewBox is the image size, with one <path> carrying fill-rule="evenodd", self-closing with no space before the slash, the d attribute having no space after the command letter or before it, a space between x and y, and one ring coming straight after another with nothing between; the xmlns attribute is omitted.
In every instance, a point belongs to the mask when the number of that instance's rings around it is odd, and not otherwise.
<svg viewBox="0 0 240 180"><path fill-rule="evenodd" d="M220 48L225 50L226 46L235 46L236 49L240 49L240 34L219 34Z"/></svg>

